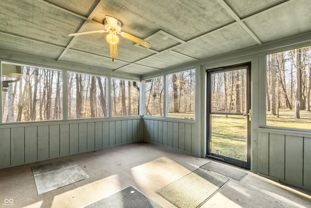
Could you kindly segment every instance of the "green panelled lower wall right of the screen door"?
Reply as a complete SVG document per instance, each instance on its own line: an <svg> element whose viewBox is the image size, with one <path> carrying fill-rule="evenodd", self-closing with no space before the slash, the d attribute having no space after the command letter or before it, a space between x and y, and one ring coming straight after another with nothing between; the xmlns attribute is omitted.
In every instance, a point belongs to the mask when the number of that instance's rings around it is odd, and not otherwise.
<svg viewBox="0 0 311 208"><path fill-rule="evenodd" d="M310 189L310 133L259 128L258 173Z"/></svg>

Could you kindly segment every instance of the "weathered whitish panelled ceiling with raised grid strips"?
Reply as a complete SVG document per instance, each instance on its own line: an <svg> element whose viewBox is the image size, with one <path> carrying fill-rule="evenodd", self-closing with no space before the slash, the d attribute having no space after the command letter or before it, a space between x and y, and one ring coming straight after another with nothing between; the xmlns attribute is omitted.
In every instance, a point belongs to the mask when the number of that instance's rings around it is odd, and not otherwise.
<svg viewBox="0 0 311 208"><path fill-rule="evenodd" d="M310 0L2 0L0 50L145 75L311 31ZM112 62L105 16L122 31Z"/></svg>

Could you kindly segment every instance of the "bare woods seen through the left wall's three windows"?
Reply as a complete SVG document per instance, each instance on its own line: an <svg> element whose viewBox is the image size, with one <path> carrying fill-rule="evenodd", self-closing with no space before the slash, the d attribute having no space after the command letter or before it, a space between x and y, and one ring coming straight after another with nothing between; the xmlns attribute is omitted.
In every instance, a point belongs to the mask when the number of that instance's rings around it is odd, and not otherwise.
<svg viewBox="0 0 311 208"><path fill-rule="evenodd" d="M68 73L68 119L107 117L107 78ZM2 63L2 122L63 119L62 72ZM112 78L112 116L138 115L139 82Z"/></svg>

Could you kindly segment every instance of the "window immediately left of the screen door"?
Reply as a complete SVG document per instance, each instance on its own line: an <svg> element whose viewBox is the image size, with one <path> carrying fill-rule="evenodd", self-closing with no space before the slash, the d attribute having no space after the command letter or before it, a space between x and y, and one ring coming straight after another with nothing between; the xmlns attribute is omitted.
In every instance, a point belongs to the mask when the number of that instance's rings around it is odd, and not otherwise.
<svg viewBox="0 0 311 208"><path fill-rule="evenodd" d="M168 76L168 116L195 117L195 70Z"/></svg>

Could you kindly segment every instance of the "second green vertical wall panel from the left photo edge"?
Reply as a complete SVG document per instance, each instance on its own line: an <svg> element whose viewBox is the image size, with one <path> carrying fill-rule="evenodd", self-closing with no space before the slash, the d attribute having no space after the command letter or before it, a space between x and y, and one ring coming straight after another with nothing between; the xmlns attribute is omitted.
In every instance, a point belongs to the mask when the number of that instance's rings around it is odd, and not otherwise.
<svg viewBox="0 0 311 208"><path fill-rule="evenodd" d="M11 165L20 165L25 162L24 142L24 128L11 128Z"/></svg>

